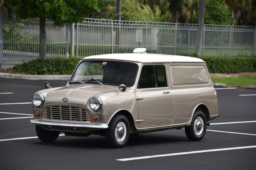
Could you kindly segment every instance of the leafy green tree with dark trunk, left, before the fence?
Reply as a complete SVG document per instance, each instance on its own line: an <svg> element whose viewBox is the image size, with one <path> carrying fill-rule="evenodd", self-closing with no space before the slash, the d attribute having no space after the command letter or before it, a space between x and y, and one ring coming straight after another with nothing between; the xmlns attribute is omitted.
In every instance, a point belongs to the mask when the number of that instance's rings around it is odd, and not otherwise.
<svg viewBox="0 0 256 170"><path fill-rule="evenodd" d="M39 59L46 55L45 22L50 19L56 26L83 21L83 17L100 12L106 0L8 0L15 14L22 18L39 18Z"/></svg>

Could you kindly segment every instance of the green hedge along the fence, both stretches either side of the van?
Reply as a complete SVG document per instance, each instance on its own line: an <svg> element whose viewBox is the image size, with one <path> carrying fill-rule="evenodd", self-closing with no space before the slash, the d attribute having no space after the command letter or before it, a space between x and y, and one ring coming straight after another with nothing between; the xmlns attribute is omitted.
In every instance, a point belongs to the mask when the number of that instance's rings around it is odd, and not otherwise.
<svg viewBox="0 0 256 170"><path fill-rule="evenodd" d="M256 57L198 57L206 62L212 73L256 72ZM24 74L72 74L81 58L53 58L33 60L13 67L13 73Z"/></svg>

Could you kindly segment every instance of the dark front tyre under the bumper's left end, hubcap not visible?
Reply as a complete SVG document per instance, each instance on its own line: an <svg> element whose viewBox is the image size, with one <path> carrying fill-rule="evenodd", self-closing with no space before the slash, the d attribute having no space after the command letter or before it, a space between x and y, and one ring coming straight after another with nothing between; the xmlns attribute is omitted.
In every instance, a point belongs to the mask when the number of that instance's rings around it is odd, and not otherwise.
<svg viewBox="0 0 256 170"><path fill-rule="evenodd" d="M60 133L58 131L47 131L39 126L35 126L35 132L37 132L38 138L43 142L53 142L58 138Z"/></svg>

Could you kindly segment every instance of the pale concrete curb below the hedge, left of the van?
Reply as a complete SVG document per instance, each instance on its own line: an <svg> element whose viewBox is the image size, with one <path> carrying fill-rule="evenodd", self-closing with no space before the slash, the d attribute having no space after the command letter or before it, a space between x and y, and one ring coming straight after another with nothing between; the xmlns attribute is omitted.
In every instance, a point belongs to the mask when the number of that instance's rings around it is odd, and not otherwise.
<svg viewBox="0 0 256 170"><path fill-rule="evenodd" d="M26 79L26 80L69 80L71 75L25 75L0 73L0 78L5 79Z"/></svg>

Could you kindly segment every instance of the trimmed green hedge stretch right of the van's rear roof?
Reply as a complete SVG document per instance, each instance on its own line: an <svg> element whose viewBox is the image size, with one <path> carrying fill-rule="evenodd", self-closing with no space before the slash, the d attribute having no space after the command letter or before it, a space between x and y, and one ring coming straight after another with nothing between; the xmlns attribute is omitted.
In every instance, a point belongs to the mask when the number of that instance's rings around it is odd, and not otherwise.
<svg viewBox="0 0 256 170"><path fill-rule="evenodd" d="M256 57L198 57L212 73L256 72Z"/></svg>

